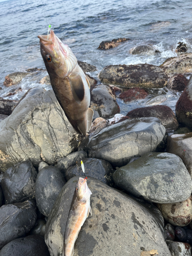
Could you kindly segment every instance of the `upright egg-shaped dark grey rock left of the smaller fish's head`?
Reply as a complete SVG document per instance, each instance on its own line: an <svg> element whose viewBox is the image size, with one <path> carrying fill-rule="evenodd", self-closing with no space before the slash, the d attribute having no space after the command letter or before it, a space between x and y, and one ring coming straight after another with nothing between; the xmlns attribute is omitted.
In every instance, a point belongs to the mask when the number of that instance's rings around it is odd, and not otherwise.
<svg viewBox="0 0 192 256"><path fill-rule="evenodd" d="M65 178L55 166L46 166L40 170L35 183L35 194L37 207L41 214L49 216L65 183Z"/></svg>

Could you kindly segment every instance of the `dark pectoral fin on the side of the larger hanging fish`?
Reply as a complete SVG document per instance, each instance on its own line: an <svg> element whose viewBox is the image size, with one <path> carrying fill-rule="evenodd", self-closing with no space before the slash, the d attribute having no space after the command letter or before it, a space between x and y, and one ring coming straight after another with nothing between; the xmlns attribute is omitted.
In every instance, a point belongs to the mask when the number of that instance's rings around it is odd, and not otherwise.
<svg viewBox="0 0 192 256"><path fill-rule="evenodd" d="M84 99L84 84L80 75L76 77L68 77L71 91L75 101L80 104Z"/></svg>

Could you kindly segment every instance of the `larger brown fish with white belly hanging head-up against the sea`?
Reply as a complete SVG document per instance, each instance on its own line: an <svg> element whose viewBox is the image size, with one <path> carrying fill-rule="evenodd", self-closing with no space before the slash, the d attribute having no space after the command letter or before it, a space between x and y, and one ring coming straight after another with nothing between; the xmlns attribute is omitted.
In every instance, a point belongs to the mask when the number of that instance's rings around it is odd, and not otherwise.
<svg viewBox="0 0 192 256"><path fill-rule="evenodd" d="M93 119L90 84L72 50L54 34L38 35L55 96L75 131L85 136Z"/></svg>

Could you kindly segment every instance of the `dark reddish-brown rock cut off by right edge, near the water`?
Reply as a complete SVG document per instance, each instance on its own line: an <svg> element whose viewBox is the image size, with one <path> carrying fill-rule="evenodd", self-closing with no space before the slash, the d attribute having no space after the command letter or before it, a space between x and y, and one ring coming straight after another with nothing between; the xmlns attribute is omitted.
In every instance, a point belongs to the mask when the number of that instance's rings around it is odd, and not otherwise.
<svg viewBox="0 0 192 256"><path fill-rule="evenodd" d="M192 128L192 76L187 87L177 101L176 117L179 123Z"/></svg>

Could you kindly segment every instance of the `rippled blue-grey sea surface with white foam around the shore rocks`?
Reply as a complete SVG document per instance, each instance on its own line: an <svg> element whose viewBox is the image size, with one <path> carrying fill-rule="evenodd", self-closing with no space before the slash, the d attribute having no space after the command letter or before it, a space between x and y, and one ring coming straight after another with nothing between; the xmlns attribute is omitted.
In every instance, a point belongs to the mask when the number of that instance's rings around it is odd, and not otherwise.
<svg viewBox="0 0 192 256"><path fill-rule="evenodd" d="M37 35L47 34L48 26L68 44L78 60L97 67L91 73L95 78L107 65L133 65L149 63L161 65L167 58L177 56L179 41L192 47L191 0L9 0L0 2L0 97L18 100L31 87L50 89L40 84L47 73L37 72L19 84L22 91L6 96L10 88L3 85L5 76L28 68L45 68L39 50ZM98 50L103 40L125 37L110 50ZM155 55L131 55L129 50L142 43L153 44L159 51ZM17 86L15 86L16 88ZM154 90L147 99L124 104L117 99L121 113L144 106L146 100L165 95L162 104L175 111L180 93L167 89Z"/></svg>

